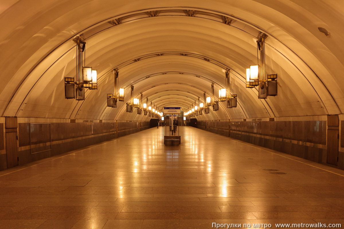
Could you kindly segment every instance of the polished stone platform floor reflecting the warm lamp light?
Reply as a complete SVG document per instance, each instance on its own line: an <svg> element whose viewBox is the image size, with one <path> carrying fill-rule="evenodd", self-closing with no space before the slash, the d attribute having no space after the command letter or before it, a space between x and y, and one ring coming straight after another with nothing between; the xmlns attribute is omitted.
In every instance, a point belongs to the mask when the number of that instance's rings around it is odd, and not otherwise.
<svg viewBox="0 0 344 229"><path fill-rule="evenodd" d="M344 225L342 170L193 127L180 128L180 146L163 135L151 128L1 171L0 229Z"/></svg>

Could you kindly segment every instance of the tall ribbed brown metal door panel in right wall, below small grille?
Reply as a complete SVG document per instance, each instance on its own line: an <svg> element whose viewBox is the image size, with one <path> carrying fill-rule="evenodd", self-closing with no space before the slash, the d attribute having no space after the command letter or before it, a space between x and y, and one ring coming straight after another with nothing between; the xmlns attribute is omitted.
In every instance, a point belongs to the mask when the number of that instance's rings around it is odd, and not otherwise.
<svg viewBox="0 0 344 229"><path fill-rule="evenodd" d="M339 130L327 129L327 163L337 165Z"/></svg>

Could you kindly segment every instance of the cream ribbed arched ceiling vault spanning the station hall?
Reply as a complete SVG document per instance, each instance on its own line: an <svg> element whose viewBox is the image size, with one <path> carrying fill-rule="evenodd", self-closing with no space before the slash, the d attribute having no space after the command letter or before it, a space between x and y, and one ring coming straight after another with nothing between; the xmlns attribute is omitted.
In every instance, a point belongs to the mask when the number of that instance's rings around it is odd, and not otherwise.
<svg viewBox="0 0 344 229"><path fill-rule="evenodd" d="M2 116L146 120L135 109L125 112L130 84L149 104L187 109L203 92L209 95L211 82L224 87L227 68L238 107L221 103L218 112L198 118L343 113L343 9L342 1L322 0L5 0ZM278 96L266 100L244 82L245 68L257 64L260 32L268 35L267 72L279 77ZM80 35L86 65L98 70L98 90L87 90L85 101L66 100L63 79L75 76L73 39ZM108 108L114 68L126 98Z"/></svg>

